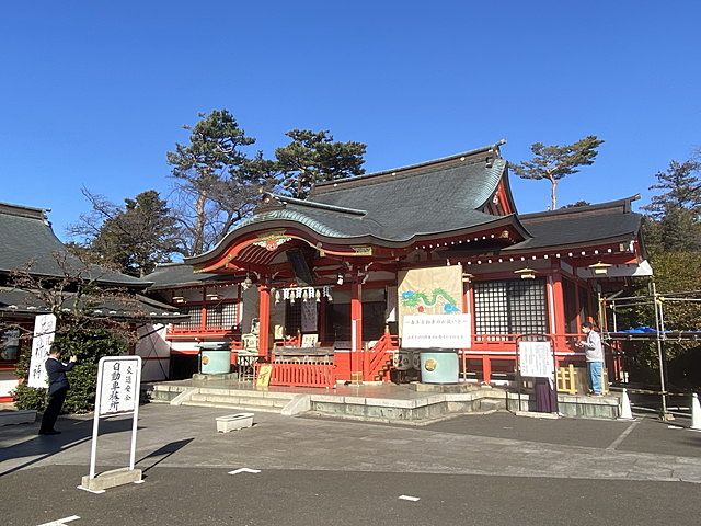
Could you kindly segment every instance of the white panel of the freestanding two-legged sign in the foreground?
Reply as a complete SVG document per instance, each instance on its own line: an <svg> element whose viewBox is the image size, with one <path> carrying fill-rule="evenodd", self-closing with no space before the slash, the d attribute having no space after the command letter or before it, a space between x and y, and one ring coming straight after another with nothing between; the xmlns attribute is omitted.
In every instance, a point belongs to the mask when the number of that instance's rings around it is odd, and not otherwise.
<svg viewBox="0 0 701 526"><path fill-rule="evenodd" d="M140 356L105 356L100 359L100 416L134 411L138 402Z"/></svg>

